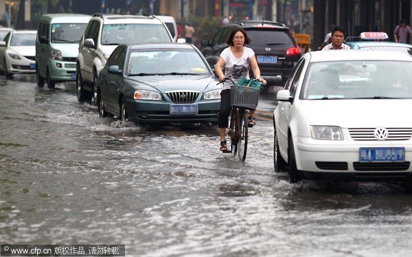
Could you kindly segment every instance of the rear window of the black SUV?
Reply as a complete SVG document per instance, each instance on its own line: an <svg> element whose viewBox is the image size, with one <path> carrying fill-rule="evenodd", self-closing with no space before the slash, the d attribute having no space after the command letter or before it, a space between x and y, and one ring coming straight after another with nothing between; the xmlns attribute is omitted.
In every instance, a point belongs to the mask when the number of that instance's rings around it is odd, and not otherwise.
<svg viewBox="0 0 412 257"><path fill-rule="evenodd" d="M251 45L265 47L267 45L291 45L293 39L284 31L275 30L247 30L252 38Z"/></svg>

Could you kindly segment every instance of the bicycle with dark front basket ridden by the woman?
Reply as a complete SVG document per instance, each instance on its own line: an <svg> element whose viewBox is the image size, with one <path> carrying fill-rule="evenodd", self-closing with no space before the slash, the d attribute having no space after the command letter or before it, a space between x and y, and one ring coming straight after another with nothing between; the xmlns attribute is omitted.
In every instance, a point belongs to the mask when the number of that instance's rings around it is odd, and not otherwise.
<svg viewBox="0 0 412 257"><path fill-rule="evenodd" d="M252 82L262 82L251 78L247 80L247 86L244 87L237 85L231 77L225 77L218 85L227 80L233 83L230 89L231 114L230 125L229 128L227 128L230 144L228 145L227 153L232 153L233 155L238 154L240 161L244 161L247 155L247 143L249 139L248 113L250 109L256 109L258 106L260 94L260 87L253 88L249 87L249 85L251 85Z"/></svg>

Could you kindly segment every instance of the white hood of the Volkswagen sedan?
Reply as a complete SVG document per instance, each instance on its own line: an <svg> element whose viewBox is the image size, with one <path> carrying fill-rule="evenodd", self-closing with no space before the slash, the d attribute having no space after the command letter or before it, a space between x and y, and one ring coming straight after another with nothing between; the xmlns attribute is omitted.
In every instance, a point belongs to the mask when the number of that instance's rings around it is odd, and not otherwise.
<svg viewBox="0 0 412 257"><path fill-rule="evenodd" d="M302 105L311 125L412 128L409 116L401 114L412 109L409 99L304 100Z"/></svg>

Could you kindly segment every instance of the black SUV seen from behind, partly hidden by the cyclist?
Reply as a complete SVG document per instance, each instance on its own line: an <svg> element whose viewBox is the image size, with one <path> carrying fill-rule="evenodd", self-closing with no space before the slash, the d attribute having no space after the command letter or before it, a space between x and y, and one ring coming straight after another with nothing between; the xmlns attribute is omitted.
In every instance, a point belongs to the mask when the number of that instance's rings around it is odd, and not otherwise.
<svg viewBox="0 0 412 257"><path fill-rule="evenodd" d="M251 38L246 46L255 52L262 78L270 85L284 85L301 57L301 49L283 23L249 20L224 25L211 41L203 39L201 42L201 52L207 63L212 68L216 65L220 53L228 47L227 37L236 27L242 27Z"/></svg>

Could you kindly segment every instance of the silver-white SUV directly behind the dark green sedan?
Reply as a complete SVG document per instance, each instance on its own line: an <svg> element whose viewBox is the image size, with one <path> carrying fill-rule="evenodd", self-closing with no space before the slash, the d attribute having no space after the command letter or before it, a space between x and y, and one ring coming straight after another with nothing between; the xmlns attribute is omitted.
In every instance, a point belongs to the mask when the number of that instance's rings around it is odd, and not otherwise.
<svg viewBox="0 0 412 257"><path fill-rule="evenodd" d="M79 44L76 88L79 102L97 100L99 72L117 47L124 43L170 43L172 35L155 15L93 14Z"/></svg>

